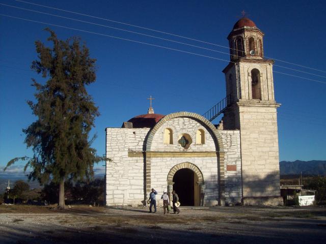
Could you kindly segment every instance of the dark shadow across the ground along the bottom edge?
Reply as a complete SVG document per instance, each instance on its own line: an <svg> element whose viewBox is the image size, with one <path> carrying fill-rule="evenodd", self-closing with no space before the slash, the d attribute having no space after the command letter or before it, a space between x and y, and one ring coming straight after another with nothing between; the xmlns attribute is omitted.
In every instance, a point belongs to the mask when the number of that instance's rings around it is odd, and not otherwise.
<svg viewBox="0 0 326 244"><path fill-rule="evenodd" d="M35 231L18 225L2 228L0 242L3 244L43 244L43 243L324 243L326 225L315 220L290 220L288 222L247 222L243 223L209 223L205 227L216 234L204 233L198 224L186 230L176 230L167 226L152 225L137 227L129 224L117 226L97 225L75 229L58 226L43 226L44 231ZM53 228L54 227L54 228ZM218 233L218 234L217 234Z"/></svg>

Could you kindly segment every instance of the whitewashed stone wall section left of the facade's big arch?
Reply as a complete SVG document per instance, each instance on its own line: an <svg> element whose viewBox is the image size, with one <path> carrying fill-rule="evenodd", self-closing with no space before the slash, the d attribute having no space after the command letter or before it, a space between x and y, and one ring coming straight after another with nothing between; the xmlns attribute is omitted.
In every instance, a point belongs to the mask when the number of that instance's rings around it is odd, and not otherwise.
<svg viewBox="0 0 326 244"><path fill-rule="evenodd" d="M144 160L128 157L128 150L142 151L149 128L106 128L106 205L142 205Z"/></svg>

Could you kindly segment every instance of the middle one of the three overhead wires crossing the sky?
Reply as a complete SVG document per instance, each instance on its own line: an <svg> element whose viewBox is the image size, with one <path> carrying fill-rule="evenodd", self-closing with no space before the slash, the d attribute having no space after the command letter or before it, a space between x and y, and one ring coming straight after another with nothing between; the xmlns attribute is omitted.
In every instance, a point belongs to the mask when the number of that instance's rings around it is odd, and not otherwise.
<svg viewBox="0 0 326 244"><path fill-rule="evenodd" d="M196 45L192 45L192 44L188 44L188 43L184 43L184 42L178 42L178 41L174 41L174 40L171 40L171 39L160 38L160 37L156 37L156 36L152 36L152 35L147 35L147 34L143 34L143 33L132 32L132 31L128 31L126 29L117 28L117 27L113 27L113 26L98 24L98 23L84 21L84 20L80 20L80 19L74 19L74 18L64 17L64 16L61 16L61 15L45 13L45 12L41 12L41 11L36 11L36 10L32 10L32 9L21 8L21 7L17 7L17 6L2 4L2 3L0 3L0 5L7 6L7 7L10 7L10 8L21 9L21 10L25 10L25 11L40 13L40 14L46 14L46 15L55 16L55 17L59 17L59 18L70 19L70 20L74 20L74 21L78 21L78 22L83 22L83 23L88 23L88 24L94 24L94 25L98 25L98 26L102 26L102 27L117 29L117 30L123 31L123 32L129 32L129 33L133 33L133 34L137 34L137 35L142 35L142 36L146 36L146 37L156 38L156 39L160 39L160 40L164 40L164 41L174 42L174 43L178 43L178 44L182 44L182 45L187 45L187 46L191 46L191 47L196 47L196 48L200 48L200 49L205 49L205 50L209 50L209 51L213 51L213 52L219 52L219 53L230 55L230 53L227 53L227 52L222 52L222 51L218 51L218 50L214 50L214 49L210 49L210 48L196 46ZM235 55L235 54L232 54L232 55L239 57L238 55ZM284 69L293 70L293 71L297 71L297 72L301 72L301 73L305 73L305 74L309 74L309 75L314 75L314 76L326 78L326 76L317 75L317 74L313 74L313 73L309 73L309 72L305 72L305 71L301 71L301 70L297 70L297 69L292 69L292 68L288 68L288 67L284 67L284 66L280 66L280 65L274 65L274 66L277 66L277 67L280 67L280 68L284 68Z"/></svg>

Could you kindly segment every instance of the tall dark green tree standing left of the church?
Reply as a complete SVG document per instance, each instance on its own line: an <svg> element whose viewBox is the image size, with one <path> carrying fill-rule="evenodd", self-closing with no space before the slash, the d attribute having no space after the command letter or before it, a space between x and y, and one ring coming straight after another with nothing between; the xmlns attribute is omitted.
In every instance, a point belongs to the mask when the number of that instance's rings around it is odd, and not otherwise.
<svg viewBox="0 0 326 244"><path fill-rule="evenodd" d="M64 208L65 180L93 176L94 163L103 160L91 147L94 138L89 139L95 117L99 116L86 90L96 79L96 59L90 57L89 49L78 38L62 41L50 29L46 31L53 46L36 41L38 60L31 68L47 81L41 84L33 79L36 102L28 104L38 119L23 129L24 142L32 147L33 157L12 159L6 168L18 160L27 160L24 170L32 168L29 179L60 184L59 207Z"/></svg>

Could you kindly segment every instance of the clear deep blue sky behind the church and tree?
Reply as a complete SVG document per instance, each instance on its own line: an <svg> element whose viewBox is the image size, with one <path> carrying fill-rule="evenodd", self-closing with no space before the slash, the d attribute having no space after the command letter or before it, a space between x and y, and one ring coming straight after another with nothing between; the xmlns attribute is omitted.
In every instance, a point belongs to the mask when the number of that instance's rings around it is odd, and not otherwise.
<svg viewBox="0 0 326 244"><path fill-rule="evenodd" d="M265 56L326 71L323 1L29 1L223 46L228 46L226 37L244 10L265 33ZM218 46L14 0L0 3L228 52ZM6 6L0 6L0 14L229 59L218 52ZM34 99L31 78L44 82L30 65L37 58L34 42L47 43L45 27L53 29L60 39L79 36L97 59L97 81L88 90L101 113L92 131L98 136L93 146L99 155L105 153L104 129L120 127L123 121L146 113L150 95L155 98L155 112L160 114L203 114L225 97L222 70L227 62L4 16L0 21L0 169L14 157L32 155L23 143L22 129L36 119L26 101ZM280 67L274 67L275 71L324 82L274 73L276 100L282 104L278 110L280 160L326 160L326 73L278 61L275 64L319 76ZM21 172L21 165L17 164L13 174ZM102 168L100 163L97 169ZM0 173L0 177L7 175Z"/></svg>

